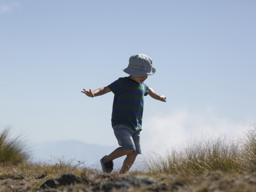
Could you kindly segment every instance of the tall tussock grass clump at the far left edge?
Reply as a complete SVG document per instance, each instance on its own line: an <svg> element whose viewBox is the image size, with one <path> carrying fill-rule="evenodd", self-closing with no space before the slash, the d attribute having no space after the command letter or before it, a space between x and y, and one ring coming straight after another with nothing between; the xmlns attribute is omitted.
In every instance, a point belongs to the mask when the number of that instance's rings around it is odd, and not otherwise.
<svg viewBox="0 0 256 192"><path fill-rule="evenodd" d="M10 128L5 128L0 133L0 163L18 164L28 160L28 152L20 136L11 139Z"/></svg>

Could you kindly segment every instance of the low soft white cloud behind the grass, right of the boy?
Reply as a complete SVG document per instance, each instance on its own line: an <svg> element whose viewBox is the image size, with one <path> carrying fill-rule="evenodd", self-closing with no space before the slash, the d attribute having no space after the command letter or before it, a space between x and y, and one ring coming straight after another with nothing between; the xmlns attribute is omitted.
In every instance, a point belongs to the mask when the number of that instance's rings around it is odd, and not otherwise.
<svg viewBox="0 0 256 192"><path fill-rule="evenodd" d="M192 112L177 110L164 116L144 119L141 138L142 150L165 152L173 147L179 148L194 139L203 137L227 136L235 138L249 128L250 122L235 123L215 115L211 110Z"/></svg>

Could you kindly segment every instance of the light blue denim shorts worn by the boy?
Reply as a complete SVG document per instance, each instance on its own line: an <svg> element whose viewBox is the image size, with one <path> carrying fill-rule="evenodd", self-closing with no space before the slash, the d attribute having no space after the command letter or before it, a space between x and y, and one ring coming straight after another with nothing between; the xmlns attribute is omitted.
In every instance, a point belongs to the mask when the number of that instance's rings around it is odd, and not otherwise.
<svg viewBox="0 0 256 192"><path fill-rule="evenodd" d="M116 125L113 130L122 149L134 150L133 153L141 154L139 141L141 130L136 131L124 125Z"/></svg>

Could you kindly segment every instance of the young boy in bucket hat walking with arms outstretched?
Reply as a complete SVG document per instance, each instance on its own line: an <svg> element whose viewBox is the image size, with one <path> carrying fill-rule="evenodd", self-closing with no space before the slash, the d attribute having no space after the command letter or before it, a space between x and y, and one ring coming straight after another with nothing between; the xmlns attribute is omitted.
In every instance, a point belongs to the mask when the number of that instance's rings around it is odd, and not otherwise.
<svg viewBox="0 0 256 192"><path fill-rule="evenodd" d="M110 91L115 95L111 121L121 147L101 159L101 167L104 172L113 171L113 160L127 155L120 170L120 173L126 173L133 165L136 156L141 154L139 140L142 130L144 96L149 94L154 99L166 101L165 96L158 95L144 83L148 75L155 74L156 70L152 64L153 61L149 56L135 54L130 57L128 67L123 69L125 73L129 74L128 77L119 78L112 84L95 91L91 91L91 89L81 91L89 97L101 96Z"/></svg>

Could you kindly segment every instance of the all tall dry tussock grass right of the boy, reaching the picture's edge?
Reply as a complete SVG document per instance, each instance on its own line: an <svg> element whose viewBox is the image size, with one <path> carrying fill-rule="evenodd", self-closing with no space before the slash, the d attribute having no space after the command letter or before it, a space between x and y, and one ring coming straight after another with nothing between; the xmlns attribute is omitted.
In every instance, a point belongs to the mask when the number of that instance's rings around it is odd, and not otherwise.
<svg viewBox="0 0 256 192"><path fill-rule="evenodd" d="M211 171L227 174L249 174L256 171L256 124L240 140L219 137L193 141L165 155L152 154L144 160L150 175L204 175Z"/></svg>

